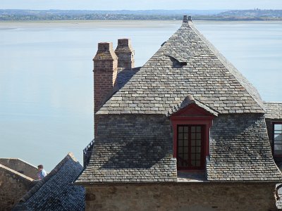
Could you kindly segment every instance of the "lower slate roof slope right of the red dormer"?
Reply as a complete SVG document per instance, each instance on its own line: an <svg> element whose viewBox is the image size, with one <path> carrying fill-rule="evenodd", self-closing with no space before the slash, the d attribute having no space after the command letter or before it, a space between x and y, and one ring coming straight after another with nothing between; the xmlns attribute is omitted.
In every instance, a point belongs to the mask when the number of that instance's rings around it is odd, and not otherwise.
<svg viewBox="0 0 282 211"><path fill-rule="evenodd" d="M281 181L263 114L219 115L210 130L207 180Z"/></svg>

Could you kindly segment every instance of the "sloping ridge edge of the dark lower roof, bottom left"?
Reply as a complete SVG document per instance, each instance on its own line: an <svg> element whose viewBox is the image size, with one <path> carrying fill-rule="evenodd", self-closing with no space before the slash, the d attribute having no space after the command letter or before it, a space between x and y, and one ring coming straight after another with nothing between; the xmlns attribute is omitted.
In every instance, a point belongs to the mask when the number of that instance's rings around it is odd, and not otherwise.
<svg viewBox="0 0 282 211"><path fill-rule="evenodd" d="M46 177L37 181L35 186L33 186L30 191L27 191L27 193L20 198L20 203L26 202L31 196L33 196L33 194L35 194L47 181L49 181L49 179L51 179L51 177L53 177L68 160L74 160L75 162L78 162L78 160L73 156L73 153L68 153L66 157L63 158L63 160L61 160L61 162L59 162L49 174L47 174Z"/></svg>

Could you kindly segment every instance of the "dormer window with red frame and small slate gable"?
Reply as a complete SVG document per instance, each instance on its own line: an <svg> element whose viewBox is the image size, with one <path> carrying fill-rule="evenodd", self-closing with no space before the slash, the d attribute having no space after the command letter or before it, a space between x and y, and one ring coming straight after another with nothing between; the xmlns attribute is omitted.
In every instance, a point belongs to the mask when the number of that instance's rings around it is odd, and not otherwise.
<svg viewBox="0 0 282 211"><path fill-rule="evenodd" d="M171 115L173 158L178 170L204 170L209 155L209 129L217 113L192 96Z"/></svg>

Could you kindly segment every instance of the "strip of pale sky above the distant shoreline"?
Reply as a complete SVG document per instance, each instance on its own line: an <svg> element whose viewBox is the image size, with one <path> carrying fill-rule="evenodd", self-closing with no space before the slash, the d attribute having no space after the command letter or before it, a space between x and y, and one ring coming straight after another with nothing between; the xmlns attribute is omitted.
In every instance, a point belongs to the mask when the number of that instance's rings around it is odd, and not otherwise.
<svg viewBox="0 0 282 211"><path fill-rule="evenodd" d="M282 9L282 0L1 0L0 9L150 10Z"/></svg>

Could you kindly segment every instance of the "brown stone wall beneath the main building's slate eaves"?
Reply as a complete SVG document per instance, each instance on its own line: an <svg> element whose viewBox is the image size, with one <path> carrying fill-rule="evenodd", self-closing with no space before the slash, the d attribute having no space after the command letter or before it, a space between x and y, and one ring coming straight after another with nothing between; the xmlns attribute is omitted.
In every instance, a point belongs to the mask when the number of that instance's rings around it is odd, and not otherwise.
<svg viewBox="0 0 282 211"><path fill-rule="evenodd" d="M274 183L178 183L86 187L86 210L276 210Z"/></svg>

